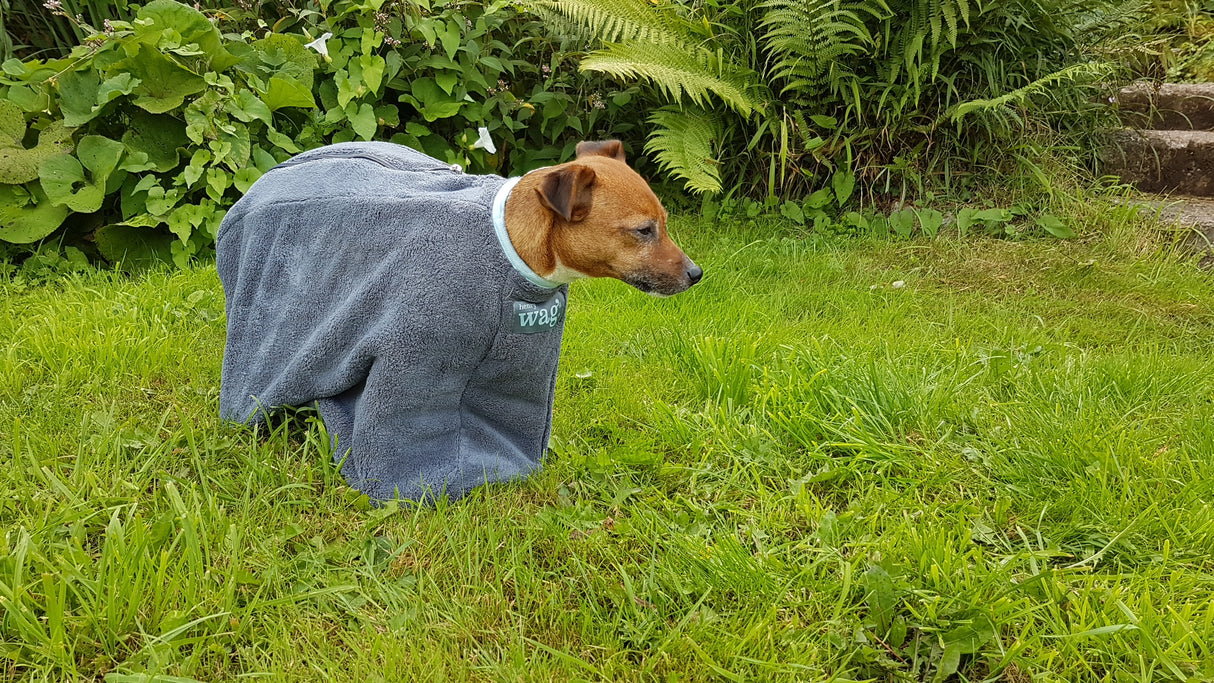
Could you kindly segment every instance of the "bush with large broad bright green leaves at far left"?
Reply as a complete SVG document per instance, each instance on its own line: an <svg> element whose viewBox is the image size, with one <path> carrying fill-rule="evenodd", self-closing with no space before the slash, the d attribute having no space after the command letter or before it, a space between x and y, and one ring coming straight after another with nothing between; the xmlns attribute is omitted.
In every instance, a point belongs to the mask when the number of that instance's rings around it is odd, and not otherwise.
<svg viewBox="0 0 1214 683"><path fill-rule="evenodd" d="M110 261L183 263L214 241L229 188L297 149L278 127L287 108L313 106L313 66L294 38L223 40L171 0L67 58L5 62L0 239L35 243L67 223ZM176 240L148 229L161 224Z"/></svg>

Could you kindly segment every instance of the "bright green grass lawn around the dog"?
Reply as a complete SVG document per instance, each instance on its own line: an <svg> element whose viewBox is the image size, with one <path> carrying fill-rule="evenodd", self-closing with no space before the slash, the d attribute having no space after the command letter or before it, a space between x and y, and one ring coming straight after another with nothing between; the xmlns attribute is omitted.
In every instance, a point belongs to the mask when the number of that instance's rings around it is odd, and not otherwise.
<svg viewBox="0 0 1214 683"><path fill-rule="evenodd" d="M1082 218L681 221L692 291L574 286L545 468L421 510L217 420L212 267L0 284L0 678L1214 679L1214 288Z"/></svg>

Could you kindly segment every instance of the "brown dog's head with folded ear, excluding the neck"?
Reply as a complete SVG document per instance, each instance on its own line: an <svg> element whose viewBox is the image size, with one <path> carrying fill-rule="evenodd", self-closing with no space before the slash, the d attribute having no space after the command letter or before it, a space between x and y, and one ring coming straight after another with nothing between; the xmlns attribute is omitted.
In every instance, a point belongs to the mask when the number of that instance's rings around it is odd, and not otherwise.
<svg viewBox="0 0 1214 683"><path fill-rule="evenodd" d="M549 246L560 268L656 296L685 291L704 274L666 234L665 209L624 163L618 140L579 143L577 159L545 171L535 193L552 214Z"/></svg>

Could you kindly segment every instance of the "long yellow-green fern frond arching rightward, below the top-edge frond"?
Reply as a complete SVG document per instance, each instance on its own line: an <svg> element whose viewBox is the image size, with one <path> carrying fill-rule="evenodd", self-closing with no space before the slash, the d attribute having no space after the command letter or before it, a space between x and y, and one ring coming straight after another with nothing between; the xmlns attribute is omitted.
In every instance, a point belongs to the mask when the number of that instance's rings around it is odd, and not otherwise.
<svg viewBox="0 0 1214 683"><path fill-rule="evenodd" d="M619 79L641 78L658 86L673 102L686 97L704 106L709 96L749 116L762 109L759 75L750 69L726 66L703 49L675 44L611 42L582 59L582 70L602 72Z"/></svg>

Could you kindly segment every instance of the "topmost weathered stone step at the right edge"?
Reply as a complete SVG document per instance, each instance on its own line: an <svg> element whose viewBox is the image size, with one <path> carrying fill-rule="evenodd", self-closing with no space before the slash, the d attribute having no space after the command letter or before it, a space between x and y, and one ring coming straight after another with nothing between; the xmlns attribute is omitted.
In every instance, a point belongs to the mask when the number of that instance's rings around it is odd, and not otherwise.
<svg viewBox="0 0 1214 683"><path fill-rule="evenodd" d="M1136 129L1214 130L1214 82L1138 82L1117 93L1117 109Z"/></svg>

